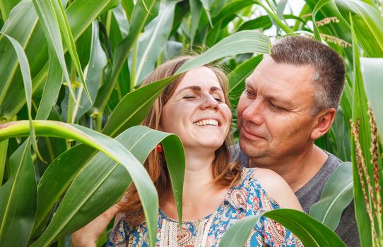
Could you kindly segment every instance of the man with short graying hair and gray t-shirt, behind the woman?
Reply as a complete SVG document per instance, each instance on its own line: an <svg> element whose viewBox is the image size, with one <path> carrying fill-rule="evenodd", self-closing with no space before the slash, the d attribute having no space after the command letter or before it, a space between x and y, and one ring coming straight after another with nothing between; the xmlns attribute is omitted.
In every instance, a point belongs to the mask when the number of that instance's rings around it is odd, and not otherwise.
<svg viewBox="0 0 383 247"><path fill-rule="evenodd" d="M284 37L246 80L237 108L240 144L233 158L244 167L280 174L310 212L341 161L314 145L334 121L345 80L336 52L302 36ZM353 203L336 233L359 246Z"/></svg>

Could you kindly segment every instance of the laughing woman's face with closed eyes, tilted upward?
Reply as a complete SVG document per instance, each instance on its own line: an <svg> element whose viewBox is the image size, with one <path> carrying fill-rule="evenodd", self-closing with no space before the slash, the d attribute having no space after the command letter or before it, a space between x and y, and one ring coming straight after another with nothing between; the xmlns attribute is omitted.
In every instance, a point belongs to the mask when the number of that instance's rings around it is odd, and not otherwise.
<svg viewBox="0 0 383 247"><path fill-rule="evenodd" d="M217 150L228 135L231 112L216 74L205 66L188 71L162 119L163 131L177 134L185 148Z"/></svg>

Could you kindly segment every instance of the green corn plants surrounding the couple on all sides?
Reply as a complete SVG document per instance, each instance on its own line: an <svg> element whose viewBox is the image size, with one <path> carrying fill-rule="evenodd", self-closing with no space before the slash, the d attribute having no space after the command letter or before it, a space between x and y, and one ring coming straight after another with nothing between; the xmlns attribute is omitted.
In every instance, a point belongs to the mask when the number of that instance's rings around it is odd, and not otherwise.
<svg viewBox="0 0 383 247"><path fill-rule="evenodd" d="M0 0L0 12L0 246L69 246L131 182L154 246L158 194L142 164L162 143L182 219L184 150L177 135L139 125L153 101L177 75L216 61L228 71L237 136L244 79L284 35L325 42L346 63L336 120L316 142L345 163L310 215L264 216L305 246L346 246L334 229L353 200L361 246L383 246L382 1L306 0L293 13L287 0ZM175 76L139 88L190 49L199 56ZM220 246L243 246L258 217L233 225Z"/></svg>

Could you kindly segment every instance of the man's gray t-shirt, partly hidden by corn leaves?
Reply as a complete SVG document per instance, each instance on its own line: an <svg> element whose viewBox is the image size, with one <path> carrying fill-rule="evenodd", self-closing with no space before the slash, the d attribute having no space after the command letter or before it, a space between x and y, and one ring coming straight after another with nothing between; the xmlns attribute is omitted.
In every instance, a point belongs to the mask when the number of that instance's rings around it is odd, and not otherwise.
<svg viewBox="0 0 383 247"><path fill-rule="evenodd" d="M240 145L236 144L231 147L232 161L237 161L242 167L249 167L249 157L240 150ZM317 203L321 197L324 184L329 176L334 172L342 162L340 159L327 152L329 158L324 162L318 173L300 188L295 195L305 212L310 212L310 207ZM360 246L358 227L355 220L355 211L353 201L346 207L342 213L341 221L335 230L336 234L346 243L347 246Z"/></svg>

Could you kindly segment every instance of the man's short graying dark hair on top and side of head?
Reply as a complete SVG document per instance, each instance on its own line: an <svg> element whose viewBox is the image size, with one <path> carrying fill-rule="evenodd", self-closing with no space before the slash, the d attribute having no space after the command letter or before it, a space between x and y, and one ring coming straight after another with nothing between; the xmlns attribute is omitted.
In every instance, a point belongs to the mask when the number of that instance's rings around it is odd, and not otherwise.
<svg viewBox="0 0 383 247"><path fill-rule="evenodd" d="M333 49L303 36L288 36L271 48L271 57L277 63L314 68L315 84L312 115L329 108L338 108L345 83L346 69L341 56Z"/></svg>

